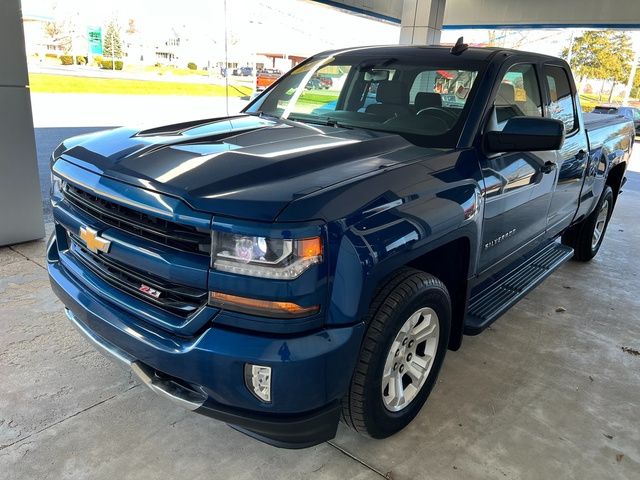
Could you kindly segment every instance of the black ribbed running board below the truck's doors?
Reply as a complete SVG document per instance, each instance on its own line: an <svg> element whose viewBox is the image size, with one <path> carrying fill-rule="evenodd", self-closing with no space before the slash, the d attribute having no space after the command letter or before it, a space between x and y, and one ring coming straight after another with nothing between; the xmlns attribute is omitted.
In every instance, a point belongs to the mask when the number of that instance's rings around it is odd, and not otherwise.
<svg viewBox="0 0 640 480"><path fill-rule="evenodd" d="M499 278L485 282L486 287L480 286L469 299L464 333L482 332L572 256L571 247L551 242Z"/></svg>

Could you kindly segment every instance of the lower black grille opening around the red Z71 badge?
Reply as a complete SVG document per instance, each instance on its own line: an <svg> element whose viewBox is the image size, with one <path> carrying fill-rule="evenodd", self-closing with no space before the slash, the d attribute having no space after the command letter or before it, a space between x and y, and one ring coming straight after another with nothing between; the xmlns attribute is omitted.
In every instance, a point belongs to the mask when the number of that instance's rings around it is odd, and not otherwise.
<svg viewBox="0 0 640 480"><path fill-rule="evenodd" d="M82 240L74 234L69 233L69 236L73 243L71 252L74 257L95 275L119 290L182 317L191 315L206 303L205 290L168 283L147 273L125 267L105 255L87 250ZM154 298L142 293L142 285L160 292L159 297Z"/></svg>

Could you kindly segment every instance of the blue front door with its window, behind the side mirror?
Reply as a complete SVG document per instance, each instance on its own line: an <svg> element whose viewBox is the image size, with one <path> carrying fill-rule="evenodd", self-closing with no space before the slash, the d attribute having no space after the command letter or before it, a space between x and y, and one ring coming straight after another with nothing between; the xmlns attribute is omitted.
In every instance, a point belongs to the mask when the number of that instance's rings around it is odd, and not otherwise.
<svg viewBox="0 0 640 480"><path fill-rule="evenodd" d="M505 68L485 131L501 130L514 116L543 115L539 67L516 63ZM500 268L544 238L554 174L541 165L555 162L555 151L487 155L484 176L484 223L479 271Z"/></svg>

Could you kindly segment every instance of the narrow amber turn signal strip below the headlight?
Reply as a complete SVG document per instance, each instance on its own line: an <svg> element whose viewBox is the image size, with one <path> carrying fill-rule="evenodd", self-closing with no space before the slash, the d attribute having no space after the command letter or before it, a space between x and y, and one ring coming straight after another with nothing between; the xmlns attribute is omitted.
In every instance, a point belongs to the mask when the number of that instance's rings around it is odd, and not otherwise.
<svg viewBox="0 0 640 480"><path fill-rule="evenodd" d="M209 292L209 304L236 312L275 318L306 317L320 310L320 305L302 307L292 302L272 302L221 292Z"/></svg>

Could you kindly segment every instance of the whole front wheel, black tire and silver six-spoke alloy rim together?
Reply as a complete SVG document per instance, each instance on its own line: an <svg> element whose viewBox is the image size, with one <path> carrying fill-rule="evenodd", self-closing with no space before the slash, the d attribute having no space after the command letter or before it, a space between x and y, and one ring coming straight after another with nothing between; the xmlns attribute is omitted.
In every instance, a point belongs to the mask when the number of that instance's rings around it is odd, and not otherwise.
<svg viewBox="0 0 640 480"><path fill-rule="evenodd" d="M385 438L413 420L440 372L451 329L451 300L433 275L403 268L369 312L360 358L343 400L343 421Z"/></svg>

